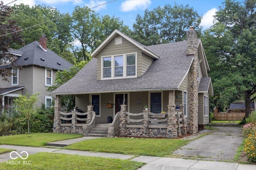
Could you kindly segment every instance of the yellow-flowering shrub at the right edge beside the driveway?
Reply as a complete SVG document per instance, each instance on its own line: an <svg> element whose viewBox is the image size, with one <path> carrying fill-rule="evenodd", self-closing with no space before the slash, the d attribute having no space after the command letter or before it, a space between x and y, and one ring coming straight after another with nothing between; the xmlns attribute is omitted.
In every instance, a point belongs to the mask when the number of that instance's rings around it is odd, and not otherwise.
<svg viewBox="0 0 256 170"><path fill-rule="evenodd" d="M244 152L248 160L256 162L256 133L254 135L249 134L245 140Z"/></svg>

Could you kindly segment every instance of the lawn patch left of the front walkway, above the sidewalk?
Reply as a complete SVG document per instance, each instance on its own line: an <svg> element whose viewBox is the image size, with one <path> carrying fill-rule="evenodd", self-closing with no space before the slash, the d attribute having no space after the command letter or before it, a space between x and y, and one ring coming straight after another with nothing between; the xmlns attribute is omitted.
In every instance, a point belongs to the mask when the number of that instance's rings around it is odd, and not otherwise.
<svg viewBox="0 0 256 170"><path fill-rule="evenodd" d="M0 145L19 145L30 147L42 147L48 142L61 141L65 139L73 139L82 137L78 134L66 133L31 133L22 135L10 135L0 137Z"/></svg>

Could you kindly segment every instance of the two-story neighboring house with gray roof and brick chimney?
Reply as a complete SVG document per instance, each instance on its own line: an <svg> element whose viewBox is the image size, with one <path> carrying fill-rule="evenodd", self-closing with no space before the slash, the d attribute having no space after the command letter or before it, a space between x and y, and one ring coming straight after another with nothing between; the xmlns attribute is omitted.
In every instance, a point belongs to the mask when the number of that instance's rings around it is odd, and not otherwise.
<svg viewBox="0 0 256 170"><path fill-rule="evenodd" d="M0 77L0 105L8 109L19 94L28 93L30 96L39 93L37 106L45 104L46 108L50 108L52 96L46 89L52 86L57 70L68 69L73 65L47 49L46 35L40 37L39 43L34 41L18 50L10 49L9 52L17 59L15 64L22 66L23 69L12 67L8 61L7 64L0 66L12 70L12 76L7 77L8 81L2 81Z"/></svg>

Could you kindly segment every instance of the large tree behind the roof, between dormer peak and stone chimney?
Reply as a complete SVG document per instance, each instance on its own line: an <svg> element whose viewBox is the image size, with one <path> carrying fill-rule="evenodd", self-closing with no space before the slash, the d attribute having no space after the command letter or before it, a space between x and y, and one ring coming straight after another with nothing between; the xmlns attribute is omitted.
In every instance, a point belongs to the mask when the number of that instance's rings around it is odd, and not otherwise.
<svg viewBox="0 0 256 170"><path fill-rule="evenodd" d="M132 38L144 45L183 41L190 25L194 26L200 37L201 18L194 8L176 3L173 7L167 4L151 11L146 9L144 16L137 15Z"/></svg>

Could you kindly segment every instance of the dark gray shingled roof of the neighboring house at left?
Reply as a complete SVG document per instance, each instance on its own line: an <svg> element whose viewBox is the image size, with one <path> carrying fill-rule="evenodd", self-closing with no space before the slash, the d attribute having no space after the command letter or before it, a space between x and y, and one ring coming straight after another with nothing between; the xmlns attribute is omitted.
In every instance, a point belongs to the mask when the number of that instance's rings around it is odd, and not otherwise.
<svg viewBox="0 0 256 170"><path fill-rule="evenodd" d="M13 50L13 49L11 50L12 51L10 52L12 53L22 54L22 56L18 57L16 61L16 64L20 66L38 65L38 66L53 68L56 70L64 70L64 68L68 69L73 66L71 63L64 60L62 57L56 55L50 49L47 49L47 52L43 51L39 47L38 41L34 41L18 50ZM44 61L42 61L41 58L44 59ZM0 66L0 68L10 68L10 67L12 67L11 64Z"/></svg>

